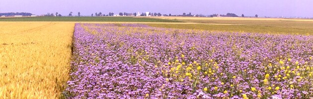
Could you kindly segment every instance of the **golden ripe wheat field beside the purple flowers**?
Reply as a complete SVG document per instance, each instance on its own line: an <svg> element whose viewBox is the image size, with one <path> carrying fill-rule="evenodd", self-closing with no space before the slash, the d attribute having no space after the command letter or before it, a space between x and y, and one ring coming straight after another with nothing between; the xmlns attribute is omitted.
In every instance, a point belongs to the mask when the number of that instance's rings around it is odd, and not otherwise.
<svg viewBox="0 0 313 99"><path fill-rule="evenodd" d="M74 23L0 23L0 98L56 99L69 79Z"/></svg>

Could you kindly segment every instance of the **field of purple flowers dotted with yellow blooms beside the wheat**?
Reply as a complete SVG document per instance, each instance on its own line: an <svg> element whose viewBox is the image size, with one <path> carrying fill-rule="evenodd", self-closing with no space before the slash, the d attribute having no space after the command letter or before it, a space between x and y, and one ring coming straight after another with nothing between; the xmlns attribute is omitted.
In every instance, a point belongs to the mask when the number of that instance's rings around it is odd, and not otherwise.
<svg viewBox="0 0 313 99"><path fill-rule="evenodd" d="M313 98L313 36L82 24L75 99Z"/></svg>

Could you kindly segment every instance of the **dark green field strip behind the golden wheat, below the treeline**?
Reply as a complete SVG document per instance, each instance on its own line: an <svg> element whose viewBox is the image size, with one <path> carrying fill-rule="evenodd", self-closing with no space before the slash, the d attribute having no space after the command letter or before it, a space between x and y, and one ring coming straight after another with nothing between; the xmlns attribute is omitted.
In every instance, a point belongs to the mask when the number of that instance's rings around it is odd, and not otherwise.
<svg viewBox="0 0 313 99"><path fill-rule="evenodd" d="M170 19L144 17L10 17L0 18L0 21L66 21L66 22L180 22Z"/></svg>

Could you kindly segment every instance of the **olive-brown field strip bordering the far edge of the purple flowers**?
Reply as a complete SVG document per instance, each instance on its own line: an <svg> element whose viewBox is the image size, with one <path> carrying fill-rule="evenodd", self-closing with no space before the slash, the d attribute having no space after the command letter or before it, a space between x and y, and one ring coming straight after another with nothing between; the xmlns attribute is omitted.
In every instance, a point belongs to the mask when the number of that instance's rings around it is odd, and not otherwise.
<svg viewBox="0 0 313 99"><path fill-rule="evenodd" d="M153 27L200 29L209 31L253 32L270 34L313 35L313 28L288 28L278 26L246 26L246 25L207 25L207 24L148 24Z"/></svg>

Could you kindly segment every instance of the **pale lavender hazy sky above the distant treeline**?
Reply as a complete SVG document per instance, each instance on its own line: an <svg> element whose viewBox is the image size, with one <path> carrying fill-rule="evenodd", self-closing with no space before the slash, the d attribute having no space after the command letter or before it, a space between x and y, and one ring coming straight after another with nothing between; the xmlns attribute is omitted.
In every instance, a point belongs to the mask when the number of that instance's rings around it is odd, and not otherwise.
<svg viewBox="0 0 313 99"><path fill-rule="evenodd" d="M313 17L313 0L0 0L0 12L59 12L68 15L102 12L160 12L162 14Z"/></svg>

